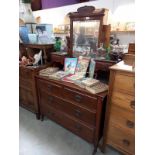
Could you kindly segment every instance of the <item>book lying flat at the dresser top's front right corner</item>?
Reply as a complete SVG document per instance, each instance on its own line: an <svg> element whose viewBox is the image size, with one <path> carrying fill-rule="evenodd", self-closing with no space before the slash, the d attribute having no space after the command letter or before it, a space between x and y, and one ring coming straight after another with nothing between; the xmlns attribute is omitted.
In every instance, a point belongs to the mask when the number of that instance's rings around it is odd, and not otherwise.
<svg viewBox="0 0 155 155"><path fill-rule="evenodd" d="M96 85L93 85L93 86L90 86L90 87L86 86L85 88L90 93L97 94L97 93L101 93L101 92L107 91L108 90L108 85L105 84L105 83L99 82Z"/></svg>

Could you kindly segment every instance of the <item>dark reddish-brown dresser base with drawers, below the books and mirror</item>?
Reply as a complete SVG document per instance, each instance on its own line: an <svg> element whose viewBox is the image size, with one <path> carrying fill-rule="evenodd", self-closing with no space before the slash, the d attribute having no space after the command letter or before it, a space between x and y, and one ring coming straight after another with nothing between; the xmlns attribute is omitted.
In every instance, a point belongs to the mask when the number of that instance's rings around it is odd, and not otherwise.
<svg viewBox="0 0 155 155"><path fill-rule="evenodd" d="M94 144L101 138L107 91L96 95L64 81L36 76L41 117L64 126Z"/></svg>

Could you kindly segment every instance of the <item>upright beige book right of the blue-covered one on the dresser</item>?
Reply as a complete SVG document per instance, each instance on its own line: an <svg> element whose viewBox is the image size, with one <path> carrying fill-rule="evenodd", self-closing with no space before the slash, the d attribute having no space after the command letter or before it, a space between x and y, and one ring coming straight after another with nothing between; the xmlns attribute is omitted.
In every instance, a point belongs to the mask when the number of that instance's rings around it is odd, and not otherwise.
<svg viewBox="0 0 155 155"><path fill-rule="evenodd" d="M86 72L87 72L88 65L89 65L89 61L90 61L89 58L80 56L78 58L78 63L77 63L76 69L75 69L75 74L85 76Z"/></svg>

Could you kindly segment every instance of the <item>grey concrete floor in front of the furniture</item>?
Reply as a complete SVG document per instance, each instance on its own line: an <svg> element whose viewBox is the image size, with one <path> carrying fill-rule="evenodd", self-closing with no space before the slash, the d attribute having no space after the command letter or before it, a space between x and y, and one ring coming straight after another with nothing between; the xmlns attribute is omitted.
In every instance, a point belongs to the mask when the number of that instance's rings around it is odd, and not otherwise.
<svg viewBox="0 0 155 155"><path fill-rule="evenodd" d="M19 155L92 155L93 145L45 118L36 120L33 113L19 110ZM96 155L120 155L107 147Z"/></svg>

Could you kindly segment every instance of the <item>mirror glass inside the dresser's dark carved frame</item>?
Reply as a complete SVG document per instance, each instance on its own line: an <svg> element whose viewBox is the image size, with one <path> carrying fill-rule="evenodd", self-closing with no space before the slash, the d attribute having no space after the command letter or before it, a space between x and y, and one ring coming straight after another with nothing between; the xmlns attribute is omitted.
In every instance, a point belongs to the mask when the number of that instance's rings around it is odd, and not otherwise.
<svg viewBox="0 0 155 155"><path fill-rule="evenodd" d="M98 47L99 20L73 21L73 56L93 57Z"/></svg>

